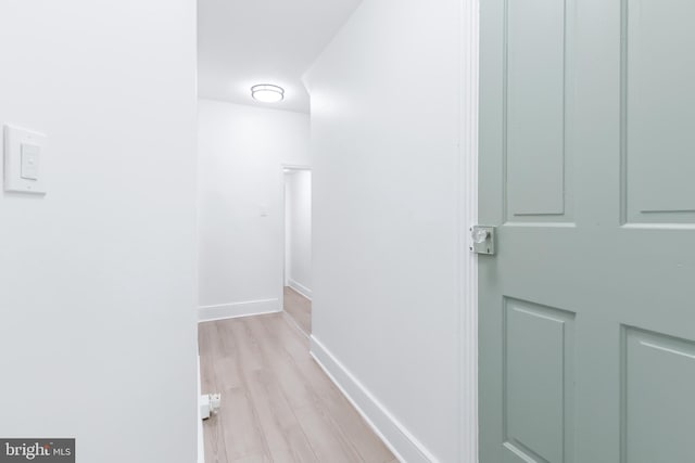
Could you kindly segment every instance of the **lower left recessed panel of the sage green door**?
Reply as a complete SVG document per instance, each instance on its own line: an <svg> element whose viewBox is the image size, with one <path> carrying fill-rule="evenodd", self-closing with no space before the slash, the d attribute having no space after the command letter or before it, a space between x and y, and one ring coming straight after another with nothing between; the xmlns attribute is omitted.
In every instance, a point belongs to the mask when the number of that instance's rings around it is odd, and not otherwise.
<svg viewBox="0 0 695 463"><path fill-rule="evenodd" d="M505 300L503 413L505 447L514 455L572 461L571 452L565 455L574 424L573 319L563 310Z"/></svg>

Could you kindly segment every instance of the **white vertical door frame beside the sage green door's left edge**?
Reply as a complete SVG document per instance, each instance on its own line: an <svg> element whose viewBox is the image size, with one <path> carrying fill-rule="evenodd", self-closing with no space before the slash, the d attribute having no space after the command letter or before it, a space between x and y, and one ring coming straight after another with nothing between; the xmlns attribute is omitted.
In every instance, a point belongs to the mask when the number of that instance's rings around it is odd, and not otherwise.
<svg viewBox="0 0 695 463"><path fill-rule="evenodd" d="M479 0L462 0L459 140L460 462L478 463L478 258L469 228L478 220Z"/></svg>

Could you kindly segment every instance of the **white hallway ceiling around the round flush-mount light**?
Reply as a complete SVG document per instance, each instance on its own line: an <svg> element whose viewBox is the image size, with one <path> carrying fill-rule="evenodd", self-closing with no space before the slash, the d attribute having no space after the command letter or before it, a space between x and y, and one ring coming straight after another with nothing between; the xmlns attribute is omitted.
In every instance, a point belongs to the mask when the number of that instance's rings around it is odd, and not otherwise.
<svg viewBox="0 0 695 463"><path fill-rule="evenodd" d="M199 0L199 95L308 113L302 74L361 1ZM255 83L285 88L285 100L254 101Z"/></svg>

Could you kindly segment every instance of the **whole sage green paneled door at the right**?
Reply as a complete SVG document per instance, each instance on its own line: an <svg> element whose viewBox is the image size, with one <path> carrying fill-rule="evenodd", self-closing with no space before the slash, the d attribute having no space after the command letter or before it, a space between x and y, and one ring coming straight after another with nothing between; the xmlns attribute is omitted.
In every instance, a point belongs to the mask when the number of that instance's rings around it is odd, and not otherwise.
<svg viewBox="0 0 695 463"><path fill-rule="evenodd" d="M695 462L695 1L481 0L480 462Z"/></svg>

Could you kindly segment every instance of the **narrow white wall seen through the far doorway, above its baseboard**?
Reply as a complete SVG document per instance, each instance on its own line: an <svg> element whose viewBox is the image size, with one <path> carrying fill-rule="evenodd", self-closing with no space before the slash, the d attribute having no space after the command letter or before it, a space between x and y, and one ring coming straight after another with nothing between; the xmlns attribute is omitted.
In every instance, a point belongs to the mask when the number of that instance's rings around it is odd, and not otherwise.
<svg viewBox="0 0 695 463"><path fill-rule="evenodd" d="M286 173L288 285L312 297L312 172Z"/></svg>

